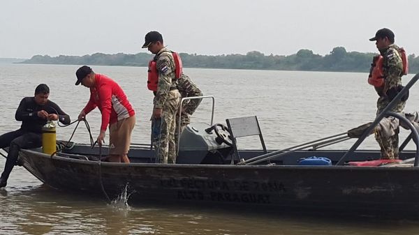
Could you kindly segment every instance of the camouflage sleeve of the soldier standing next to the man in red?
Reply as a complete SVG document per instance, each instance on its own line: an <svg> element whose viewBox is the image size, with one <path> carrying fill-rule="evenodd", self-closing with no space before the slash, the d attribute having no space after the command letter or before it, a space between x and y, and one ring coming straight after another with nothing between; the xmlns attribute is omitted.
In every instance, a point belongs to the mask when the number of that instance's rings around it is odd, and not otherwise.
<svg viewBox="0 0 419 235"><path fill-rule="evenodd" d="M175 73L170 56L163 53L156 61L157 70L159 70L159 83L157 84L156 97L154 98L154 107L162 109L166 102L170 86L172 85L172 73ZM174 76L173 76L174 77Z"/></svg>

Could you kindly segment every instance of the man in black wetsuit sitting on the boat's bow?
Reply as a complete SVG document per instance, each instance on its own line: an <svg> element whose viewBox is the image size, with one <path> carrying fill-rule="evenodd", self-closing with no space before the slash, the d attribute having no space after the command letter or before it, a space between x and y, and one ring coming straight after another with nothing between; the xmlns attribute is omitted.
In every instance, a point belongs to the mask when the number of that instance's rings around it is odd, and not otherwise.
<svg viewBox="0 0 419 235"><path fill-rule="evenodd" d="M15 119L22 121L20 129L0 135L0 148L9 147L4 171L0 177L0 188L6 186L19 150L42 146L42 127L48 120L70 123L70 116L57 104L48 100L49 95L50 88L46 84L36 86L35 96L23 98L17 107Z"/></svg>

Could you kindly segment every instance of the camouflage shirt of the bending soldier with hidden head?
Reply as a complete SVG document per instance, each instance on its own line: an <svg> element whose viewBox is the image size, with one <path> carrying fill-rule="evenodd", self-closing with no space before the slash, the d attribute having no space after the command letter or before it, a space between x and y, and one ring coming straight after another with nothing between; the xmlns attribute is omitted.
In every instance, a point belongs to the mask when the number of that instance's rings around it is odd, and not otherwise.
<svg viewBox="0 0 419 235"><path fill-rule="evenodd" d="M198 86L192 82L192 80L182 74L182 76L177 79L177 89L179 89L180 95L182 98L185 97L193 97L193 96L203 96L203 93L200 91ZM186 114L193 114L195 109L198 107L202 99L192 99L192 100L185 100L182 103L182 109Z"/></svg>

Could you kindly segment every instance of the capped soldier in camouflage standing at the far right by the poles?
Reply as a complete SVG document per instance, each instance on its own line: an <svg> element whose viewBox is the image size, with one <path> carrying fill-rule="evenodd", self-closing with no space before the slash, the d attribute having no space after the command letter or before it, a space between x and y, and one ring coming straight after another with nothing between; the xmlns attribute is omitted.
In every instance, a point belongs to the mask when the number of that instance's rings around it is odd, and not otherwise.
<svg viewBox="0 0 419 235"><path fill-rule="evenodd" d="M376 32L374 38L370 41L376 41L376 47L383 56L383 77L384 84L381 87L376 87L378 96L377 113L380 114L383 109L391 102L402 86L402 56L399 52L399 47L395 45L395 35L390 29L380 29ZM392 112L402 112L406 100L400 100L395 107L391 109ZM399 158L399 128L395 130L395 135L385 137L381 130L375 132L375 138L381 147L382 159L397 159Z"/></svg>

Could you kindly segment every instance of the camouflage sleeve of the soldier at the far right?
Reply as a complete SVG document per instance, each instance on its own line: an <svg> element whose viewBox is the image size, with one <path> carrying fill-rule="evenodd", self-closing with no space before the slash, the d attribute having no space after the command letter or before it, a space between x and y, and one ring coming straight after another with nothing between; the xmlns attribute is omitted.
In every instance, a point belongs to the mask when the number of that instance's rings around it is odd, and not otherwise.
<svg viewBox="0 0 419 235"><path fill-rule="evenodd" d="M385 87L387 87L387 89L392 89L397 86L400 80L400 75L402 75L402 57L399 52L392 49L388 50L388 53L385 54L383 59L383 67L387 68L383 71L385 77Z"/></svg>

